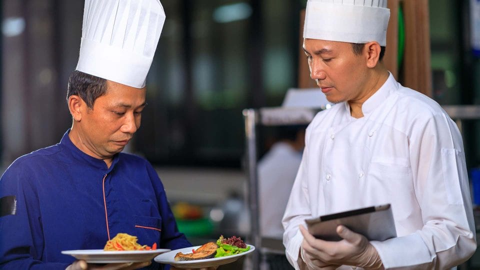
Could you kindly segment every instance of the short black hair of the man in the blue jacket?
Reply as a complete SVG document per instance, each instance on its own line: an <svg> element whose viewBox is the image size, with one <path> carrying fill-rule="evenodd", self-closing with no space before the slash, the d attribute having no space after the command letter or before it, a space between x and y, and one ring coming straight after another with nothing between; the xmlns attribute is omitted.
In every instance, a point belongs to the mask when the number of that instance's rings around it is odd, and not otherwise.
<svg viewBox="0 0 480 270"><path fill-rule="evenodd" d="M78 95L85 101L88 108L93 108L93 102L106 93L106 79L73 70L68 78L66 100L70 95Z"/></svg>

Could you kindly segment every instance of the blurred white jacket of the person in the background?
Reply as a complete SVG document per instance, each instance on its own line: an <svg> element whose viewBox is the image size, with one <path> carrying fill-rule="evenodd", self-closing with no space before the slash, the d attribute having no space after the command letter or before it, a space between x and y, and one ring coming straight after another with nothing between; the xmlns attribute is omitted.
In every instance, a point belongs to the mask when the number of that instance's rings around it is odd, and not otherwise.
<svg viewBox="0 0 480 270"><path fill-rule="evenodd" d="M300 166L301 152L286 142L276 142L258 161L260 234L281 239L281 218Z"/></svg>

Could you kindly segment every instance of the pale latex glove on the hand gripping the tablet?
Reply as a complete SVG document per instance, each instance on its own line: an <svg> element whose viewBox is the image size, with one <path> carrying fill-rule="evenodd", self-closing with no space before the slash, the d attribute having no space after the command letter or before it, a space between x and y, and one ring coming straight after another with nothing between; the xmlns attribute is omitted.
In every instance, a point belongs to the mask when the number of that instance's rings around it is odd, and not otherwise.
<svg viewBox="0 0 480 270"><path fill-rule="evenodd" d="M325 241L315 238L300 225L303 242L301 247L310 257L328 264L345 264L365 269L383 269L378 252L365 238L343 225L336 227L340 241Z"/></svg>

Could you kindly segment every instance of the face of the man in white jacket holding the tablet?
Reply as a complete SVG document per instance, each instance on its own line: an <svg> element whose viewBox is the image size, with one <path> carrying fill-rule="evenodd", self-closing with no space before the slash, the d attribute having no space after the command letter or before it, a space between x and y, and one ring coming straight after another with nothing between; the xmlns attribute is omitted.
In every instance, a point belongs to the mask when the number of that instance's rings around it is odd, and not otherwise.
<svg viewBox="0 0 480 270"><path fill-rule="evenodd" d="M320 39L303 40L310 77L332 103L362 98L366 83L366 58L353 53L350 43Z"/></svg>

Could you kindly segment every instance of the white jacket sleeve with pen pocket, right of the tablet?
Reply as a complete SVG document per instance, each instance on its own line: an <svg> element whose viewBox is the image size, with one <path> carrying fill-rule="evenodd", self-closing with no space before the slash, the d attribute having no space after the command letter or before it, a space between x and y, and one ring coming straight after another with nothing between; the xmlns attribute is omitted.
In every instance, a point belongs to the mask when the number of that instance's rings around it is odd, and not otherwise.
<svg viewBox="0 0 480 270"><path fill-rule="evenodd" d="M371 243L387 269L447 269L467 260L476 249L461 135L455 123L439 113L412 129L409 141L423 227Z"/></svg>

